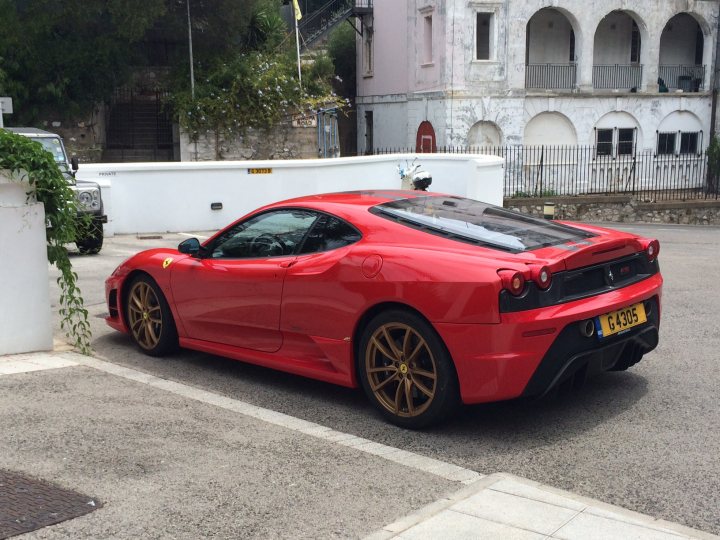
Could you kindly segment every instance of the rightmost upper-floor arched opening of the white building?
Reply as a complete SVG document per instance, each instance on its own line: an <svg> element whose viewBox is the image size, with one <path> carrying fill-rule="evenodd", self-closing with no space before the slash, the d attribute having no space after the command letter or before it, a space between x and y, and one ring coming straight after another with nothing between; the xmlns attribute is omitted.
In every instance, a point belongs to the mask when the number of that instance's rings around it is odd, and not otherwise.
<svg viewBox="0 0 720 540"><path fill-rule="evenodd" d="M660 36L660 91L699 92L705 81L705 34L692 15L679 13Z"/></svg>

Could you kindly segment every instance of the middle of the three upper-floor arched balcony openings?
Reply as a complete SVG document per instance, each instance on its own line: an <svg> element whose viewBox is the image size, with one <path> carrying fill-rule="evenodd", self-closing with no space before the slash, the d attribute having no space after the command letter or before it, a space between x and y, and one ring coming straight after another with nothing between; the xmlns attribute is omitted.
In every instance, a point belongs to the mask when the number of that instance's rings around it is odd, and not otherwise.
<svg viewBox="0 0 720 540"><path fill-rule="evenodd" d="M644 25L625 11L613 11L595 30L593 87L636 91L642 84Z"/></svg>

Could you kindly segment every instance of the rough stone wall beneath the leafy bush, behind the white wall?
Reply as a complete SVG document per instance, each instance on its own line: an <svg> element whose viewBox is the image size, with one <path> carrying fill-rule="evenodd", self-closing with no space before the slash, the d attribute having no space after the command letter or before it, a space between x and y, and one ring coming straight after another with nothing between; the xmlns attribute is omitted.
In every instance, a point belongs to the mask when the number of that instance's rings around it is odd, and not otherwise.
<svg viewBox="0 0 720 540"><path fill-rule="evenodd" d="M190 140L180 134L181 161L312 159L318 157L316 127L293 127L290 123L272 129L251 129L236 139L220 138L214 133ZM217 154L216 154L217 146Z"/></svg>

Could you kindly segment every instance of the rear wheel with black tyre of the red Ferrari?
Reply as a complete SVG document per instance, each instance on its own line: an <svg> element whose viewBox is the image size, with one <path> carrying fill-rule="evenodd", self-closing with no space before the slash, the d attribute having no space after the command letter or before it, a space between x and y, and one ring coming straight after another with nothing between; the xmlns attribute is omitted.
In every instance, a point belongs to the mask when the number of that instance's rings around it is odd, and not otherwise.
<svg viewBox="0 0 720 540"><path fill-rule="evenodd" d="M395 425L430 426L459 403L450 354L435 329L412 312L390 310L373 318L363 331L357 363L368 398Z"/></svg>

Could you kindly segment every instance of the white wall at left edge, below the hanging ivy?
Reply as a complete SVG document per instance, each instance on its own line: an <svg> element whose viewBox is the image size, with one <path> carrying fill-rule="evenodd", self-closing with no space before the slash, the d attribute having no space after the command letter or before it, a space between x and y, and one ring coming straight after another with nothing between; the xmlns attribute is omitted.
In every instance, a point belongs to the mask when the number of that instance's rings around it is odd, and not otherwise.
<svg viewBox="0 0 720 540"><path fill-rule="evenodd" d="M0 355L51 350L45 211L0 174Z"/></svg>

